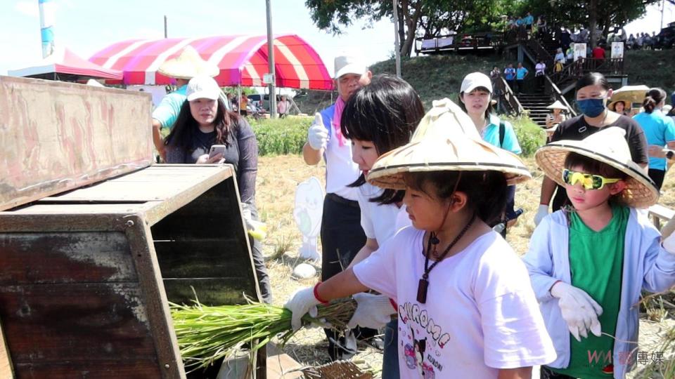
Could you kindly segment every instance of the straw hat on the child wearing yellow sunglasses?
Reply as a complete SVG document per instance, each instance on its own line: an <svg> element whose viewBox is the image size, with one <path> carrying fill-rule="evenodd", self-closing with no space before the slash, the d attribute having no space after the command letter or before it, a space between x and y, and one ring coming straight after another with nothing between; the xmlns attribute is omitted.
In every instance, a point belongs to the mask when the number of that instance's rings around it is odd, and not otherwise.
<svg viewBox="0 0 675 379"><path fill-rule="evenodd" d="M622 128L606 128L589 135L584 140L551 142L536 150L534 158L548 178L563 186L565 159L570 152L608 164L628 175L626 189L619 194L622 202L634 208L646 208L656 204L659 190L643 168L631 159L631 150L625 135L626 131Z"/></svg>

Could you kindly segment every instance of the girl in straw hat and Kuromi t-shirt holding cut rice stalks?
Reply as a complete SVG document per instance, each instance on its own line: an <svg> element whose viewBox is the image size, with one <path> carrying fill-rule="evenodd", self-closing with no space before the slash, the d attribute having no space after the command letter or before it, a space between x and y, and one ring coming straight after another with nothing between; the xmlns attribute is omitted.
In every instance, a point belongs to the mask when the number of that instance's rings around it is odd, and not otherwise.
<svg viewBox="0 0 675 379"><path fill-rule="evenodd" d="M413 227L354 267L297 291L293 326L321 302L374 289L397 302L401 378L530 378L553 361L527 270L488 226L508 182L529 178L515 154L481 140L450 100L435 102L411 142L367 179L405 189Z"/></svg>

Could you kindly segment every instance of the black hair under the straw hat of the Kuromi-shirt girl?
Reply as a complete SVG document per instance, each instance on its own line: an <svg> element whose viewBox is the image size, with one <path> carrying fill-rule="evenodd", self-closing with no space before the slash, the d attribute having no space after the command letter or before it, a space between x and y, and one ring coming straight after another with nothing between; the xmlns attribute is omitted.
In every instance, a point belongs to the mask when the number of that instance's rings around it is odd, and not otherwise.
<svg viewBox="0 0 675 379"><path fill-rule="evenodd" d="M506 177L499 171L429 171L406 173L406 187L422 191L430 197L445 200L453 192L464 192L467 205L487 225L494 225L503 217L508 199ZM434 194L424 190L430 184Z"/></svg>

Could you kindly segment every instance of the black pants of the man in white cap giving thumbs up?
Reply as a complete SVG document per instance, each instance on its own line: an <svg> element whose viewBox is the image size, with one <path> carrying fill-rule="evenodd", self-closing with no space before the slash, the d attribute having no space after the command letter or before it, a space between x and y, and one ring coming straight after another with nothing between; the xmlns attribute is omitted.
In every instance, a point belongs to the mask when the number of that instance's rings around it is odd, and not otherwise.
<svg viewBox="0 0 675 379"><path fill-rule="evenodd" d="M321 280L326 281L345 270L365 244L366 234L361 228L359 202L336 194L326 194L321 220ZM324 331L328 337L330 359L339 359L342 350L333 343L334 340L340 340L338 333L330 329ZM354 332L357 338L367 338L377 333L365 328L357 328Z"/></svg>

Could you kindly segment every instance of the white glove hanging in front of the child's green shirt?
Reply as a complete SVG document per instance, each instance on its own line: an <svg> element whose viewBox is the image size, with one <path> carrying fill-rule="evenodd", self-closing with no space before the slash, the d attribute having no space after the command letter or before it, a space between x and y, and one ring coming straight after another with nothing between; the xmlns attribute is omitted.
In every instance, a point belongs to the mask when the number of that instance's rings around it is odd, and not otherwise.
<svg viewBox="0 0 675 379"><path fill-rule="evenodd" d="M598 316L603 314L603 307L593 300L588 293L564 281L558 281L551 287L551 295L558 298L560 312L567 322L570 333L581 342L581 337L588 337L588 331L600 337L602 329Z"/></svg>

